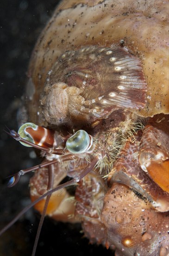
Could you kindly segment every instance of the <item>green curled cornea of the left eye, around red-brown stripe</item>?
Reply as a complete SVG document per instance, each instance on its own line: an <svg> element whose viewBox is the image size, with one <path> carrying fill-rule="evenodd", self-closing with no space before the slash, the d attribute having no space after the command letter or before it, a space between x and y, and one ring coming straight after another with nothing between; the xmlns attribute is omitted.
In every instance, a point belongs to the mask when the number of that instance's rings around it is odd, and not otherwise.
<svg viewBox="0 0 169 256"><path fill-rule="evenodd" d="M19 130L18 133L21 136L21 138L25 139L26 141L30 141L32 143L35 143L34 139L31 137L30 133L28 133L26 131L26 128L31 127L34 130L38 129L38 125L34 124L34 123L25 123L23 124ZM32 147L30 145L25 144L24 142L19 141L22 145L24 145L25 147Z"/></svg>

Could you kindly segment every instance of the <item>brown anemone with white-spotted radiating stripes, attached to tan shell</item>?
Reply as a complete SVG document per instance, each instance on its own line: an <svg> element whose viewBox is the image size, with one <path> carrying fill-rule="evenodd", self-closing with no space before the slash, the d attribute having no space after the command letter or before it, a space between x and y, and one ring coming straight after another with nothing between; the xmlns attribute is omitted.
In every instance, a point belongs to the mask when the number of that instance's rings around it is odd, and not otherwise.
<svg viewBox="0 0 169 256"><path fill-rule="evenodd" d="M49 124L106 118L119 108L143 108L146 82L141 62L120 47L83 47L61 55L41 99Z"/></svg>

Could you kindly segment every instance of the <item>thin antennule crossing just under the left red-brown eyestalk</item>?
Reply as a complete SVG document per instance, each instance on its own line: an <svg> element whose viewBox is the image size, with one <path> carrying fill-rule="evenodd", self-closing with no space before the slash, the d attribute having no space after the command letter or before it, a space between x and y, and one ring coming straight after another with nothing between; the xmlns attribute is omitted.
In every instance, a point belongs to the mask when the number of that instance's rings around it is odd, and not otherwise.
<svg viewBox="0 0 169 256"><path fill-rule="evenodd" d="M7 128L7 127L6 127ZM44 148L43 146L37 145L31 141L27 141L23 138L20 137L19 133L15 132L14 130L10 130L9 128L7 128L9 130L9 132L5 131L8 135L12 136L13 139L15 139L16 141L20 141L23 142L33 148L38 148L40 150L43 150L47 153L51 153L51 154L56 154L56 155L62 155L63 154L63 150L62 149L54 149L54 148Z"/></svg>

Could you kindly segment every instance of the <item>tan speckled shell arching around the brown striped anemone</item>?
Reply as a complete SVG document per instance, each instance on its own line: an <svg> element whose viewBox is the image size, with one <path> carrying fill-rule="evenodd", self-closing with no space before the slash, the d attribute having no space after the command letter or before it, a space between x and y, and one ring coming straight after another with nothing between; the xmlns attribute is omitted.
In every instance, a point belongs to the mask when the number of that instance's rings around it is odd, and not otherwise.
<svg viewBox="0 0 169 256"><path fill-rule="evenodd" d="M63 1L44 28L31 56L27 85L29 113L41 113L40 95L61 54L82 46L123 45L140 58L148 84L141 116L169 113L168 1ZM38 124L43 124L38 119ZM36 122L36 123L37 123Z"/></svg>

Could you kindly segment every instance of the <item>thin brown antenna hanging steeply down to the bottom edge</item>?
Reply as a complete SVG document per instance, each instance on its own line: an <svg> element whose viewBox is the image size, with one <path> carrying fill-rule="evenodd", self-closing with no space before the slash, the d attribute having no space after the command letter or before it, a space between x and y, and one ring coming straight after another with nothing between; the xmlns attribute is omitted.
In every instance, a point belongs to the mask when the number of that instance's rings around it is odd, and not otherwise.
<svg viewBox="0 0 169 256"><path fill-rule="evenodd" d="M54 166L53 165L49 165L49 167L48 167L48 177L49 177L49 180L48 180L47 190L50 190L50 189L53 188L53 183L54 183ZM47 197L46 197L46 201L45 201L45 204L44 204L44 209L43 209L43 212L42 212L42 215L41 215L41 218L40 218L40 222L39 222L39 225L38 225L38 230L37 230L35 242L34 242L34 245L33 245L32 256L34 256L35 253L36 253L40 232L41 232L41 229L42 229L42 225L44 223L44 217L46 215L46 210L47 210L51 195L52 194L47 195Z"/></svg>

